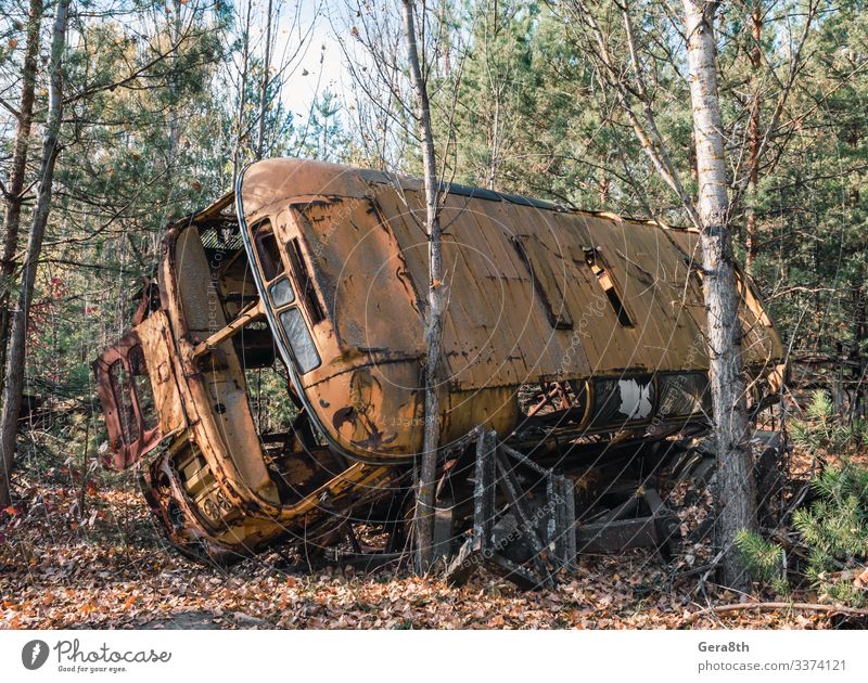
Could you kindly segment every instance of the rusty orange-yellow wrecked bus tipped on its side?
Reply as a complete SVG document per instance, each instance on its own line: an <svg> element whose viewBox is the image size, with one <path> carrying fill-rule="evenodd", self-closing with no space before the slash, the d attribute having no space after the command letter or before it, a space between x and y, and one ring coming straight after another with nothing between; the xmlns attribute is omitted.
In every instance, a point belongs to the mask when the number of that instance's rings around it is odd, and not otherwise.
<svg viewBox="0 0 868 683"><path fill-rule="evenodd" d="M511 570L556 545L569 564L590 465L707 429L698 234L446 190L438 547L478 550L532 518ZM307 553L362 524L400 550L424 425L423 227L419 180L297 159L253 164L169 225L132 327L94 371L107 464L139 464L181 552ZM751 282L740 291L758 404L782 349ZM567 512L535 515L552 491Z"/></svg>

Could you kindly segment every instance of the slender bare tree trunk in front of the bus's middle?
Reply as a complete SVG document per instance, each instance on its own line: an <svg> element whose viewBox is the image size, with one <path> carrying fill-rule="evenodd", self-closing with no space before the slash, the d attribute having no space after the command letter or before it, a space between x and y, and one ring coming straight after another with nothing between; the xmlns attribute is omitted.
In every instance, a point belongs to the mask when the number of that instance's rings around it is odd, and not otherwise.
<svg viewBox="0 0 868 683"><path fill-rule="evenodd" d="M425 427L422 462L416 498L417 569L425 572L431 567L434 541L434 477L437 469L437 448L441 428L439 377L441 346L445 291L443 284L443 257L441 253L441 225L437 168L434 157L434 132L431 126L431 106L427 85L419 62L416 38L416 8L412 0L403 0L404 27L410 76L419 105L419 132L425 180L425 230L429 254L429 312L425 324L427 364L425 372Z"/></svg>

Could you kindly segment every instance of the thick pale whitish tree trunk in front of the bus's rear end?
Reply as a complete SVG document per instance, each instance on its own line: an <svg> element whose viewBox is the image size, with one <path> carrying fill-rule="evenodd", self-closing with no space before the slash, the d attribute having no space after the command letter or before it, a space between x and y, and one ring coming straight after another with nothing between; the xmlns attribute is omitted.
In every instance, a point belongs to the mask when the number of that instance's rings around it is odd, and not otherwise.
<svg viewBox="0 0 868 683"><path fill-rule="evenodd" d="M717 91L714 41L717 3L682 2L697 145L698 212L702 224L703 283L717 447L715 541L723 551L720 580L728 587L744 590L750 585L749 579L740 565L733 538L739 530L756 526L756 490L749 444L739 296Z"/></svg>

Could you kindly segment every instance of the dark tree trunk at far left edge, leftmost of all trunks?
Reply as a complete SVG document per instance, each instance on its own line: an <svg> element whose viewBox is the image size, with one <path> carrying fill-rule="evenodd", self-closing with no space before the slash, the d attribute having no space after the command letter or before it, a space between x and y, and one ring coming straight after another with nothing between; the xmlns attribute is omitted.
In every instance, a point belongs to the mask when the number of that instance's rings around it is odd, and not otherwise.
<svg viewBox="0 0 868 683"><path fill-rule="evenodd" d="M36 87L36 59L39 55L39 26L42 23L42 0L30 0L30 16L27 23L27 43L24 49L22 68L21 104L18 106L18 127L15 131L15 149L12 153L12 168L7 188L5 220L7 234L3 240L3 257L0 261L0 368L5 368L9 346L9 320L11 300L8 289L15 273L15 252L18 248L21 208L24 204L24 178L27 172L27 150L30 144L30 127L34 120L34 90ZM0 376L0 394L3 377Z"/></svg>

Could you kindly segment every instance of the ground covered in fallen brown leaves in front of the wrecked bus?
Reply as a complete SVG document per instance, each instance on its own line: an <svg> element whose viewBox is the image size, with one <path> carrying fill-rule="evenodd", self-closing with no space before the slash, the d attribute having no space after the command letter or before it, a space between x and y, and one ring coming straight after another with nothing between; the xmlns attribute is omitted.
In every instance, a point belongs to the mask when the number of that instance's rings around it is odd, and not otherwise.
<svg viewBox="0 0 868 683"><path fill-rule="evenodd" d="M268 554L228 571L196 565L163 540L131 476L84 487L65 467L33 477L0 511L0 628L637 629L834 628L790 609L717 615L746 596L689 574L700 544L658 553L583 555L554 590L521 591L477 572L452 588L408 572L286 570ZM84 506L80 501L84 493ZM82 510L84 507L84 510ZM687 576L685 576L687 575ZM799 600L810 596L800 596ZM751 600L763 600L762 595Z"/></svg>

